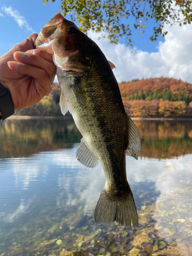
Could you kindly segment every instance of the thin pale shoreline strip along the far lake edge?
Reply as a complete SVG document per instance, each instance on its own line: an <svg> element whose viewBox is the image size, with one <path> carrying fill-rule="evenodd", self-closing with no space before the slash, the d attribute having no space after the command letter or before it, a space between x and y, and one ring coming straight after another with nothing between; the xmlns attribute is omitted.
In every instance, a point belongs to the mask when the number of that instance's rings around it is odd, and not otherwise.
<svg viewBox="0 0 192 256"><path fill-rule="evenodd" d="M18 116L13 115L8 119L72 119L72 116ZM192 117L131 117L133 121L192 121Z"/></svg>

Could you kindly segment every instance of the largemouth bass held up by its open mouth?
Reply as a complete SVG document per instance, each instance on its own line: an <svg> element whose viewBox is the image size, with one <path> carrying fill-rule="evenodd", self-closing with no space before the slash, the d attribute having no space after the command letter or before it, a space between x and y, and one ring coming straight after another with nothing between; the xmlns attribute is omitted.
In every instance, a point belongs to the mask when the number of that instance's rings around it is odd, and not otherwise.
<svg viewBox="0 0 192 256"><path fill-rule="evenodd" d="M126 178L126 150L138 159L141 140L126 114L112 68L97 44L60 13L40 31L36 48L53 55L61 87L60 108L72 114L82 135L76 158L106 176L95 208L96 223L138 226L132 190Z"/></svg>

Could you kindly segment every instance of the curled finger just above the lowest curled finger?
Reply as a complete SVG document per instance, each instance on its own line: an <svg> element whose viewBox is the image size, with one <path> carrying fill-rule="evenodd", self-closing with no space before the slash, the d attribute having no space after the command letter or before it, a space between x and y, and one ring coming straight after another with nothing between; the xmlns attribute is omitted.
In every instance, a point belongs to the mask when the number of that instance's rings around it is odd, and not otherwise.
<svg viewBox="0 0 192 256"><path fill-rule="evenodd" d="M44 51L45 52L45 51ZM46 57L48 57L48 55L45 53L40 53L40 54L45 54ZM54 63L39 57L37 55L31 54L31 53L23 53L23 52L15 52L14 53L14 59L16 61L22 62L22 63L26 63L29 64L31 66L34 66L36 68L40 68L43 69L47 72L50 81L52 82L52 77L54 75L55 77L55 73L56 73L56 66L54 65Z"/></svg>

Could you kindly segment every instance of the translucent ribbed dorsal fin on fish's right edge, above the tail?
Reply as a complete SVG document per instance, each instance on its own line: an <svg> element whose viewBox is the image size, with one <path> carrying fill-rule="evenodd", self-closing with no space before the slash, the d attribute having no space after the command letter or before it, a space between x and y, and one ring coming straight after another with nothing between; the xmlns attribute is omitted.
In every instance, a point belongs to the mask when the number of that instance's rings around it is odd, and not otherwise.
<svg viewBox="0 0 192 256"><path fill-rule="evenodd" d="M128 146L127 151L130 156L138 159L141 151L141 139L137 127L133 123L132 119L127 115L128 118Z"/></svg>

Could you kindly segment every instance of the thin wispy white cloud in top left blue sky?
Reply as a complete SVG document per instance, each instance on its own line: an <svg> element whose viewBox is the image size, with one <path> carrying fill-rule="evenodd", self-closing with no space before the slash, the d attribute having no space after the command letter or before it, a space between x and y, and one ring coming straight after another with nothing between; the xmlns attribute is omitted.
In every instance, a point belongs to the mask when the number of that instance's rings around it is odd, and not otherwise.
<svg viewBox="0 0 192 256"><path fill-rule="evenodd" d="M4 11L7 15L10 15L14 18L15 22L18 24L20 28L25 27L28 31L32 31L32 28L27 23L27 20L24 16L20 15L20 13L17 10L13 10L13 8L10 7L2 7L2 11Z"/></svg>

